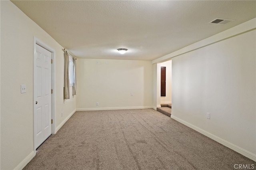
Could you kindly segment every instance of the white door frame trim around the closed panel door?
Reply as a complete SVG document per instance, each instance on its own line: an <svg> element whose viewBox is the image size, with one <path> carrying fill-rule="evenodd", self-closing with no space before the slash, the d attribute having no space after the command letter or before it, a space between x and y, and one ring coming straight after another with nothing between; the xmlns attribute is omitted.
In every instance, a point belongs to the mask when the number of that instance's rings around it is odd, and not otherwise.
<svg viewBox="0 0 256 170"><path fill-rule="evenodd" d="M34 37L34 81L36 80L36 74L35 74L35 67L36 67L36 44L40 45L41 47L47 49L48 51L50 51L52 53L52 82L51 82L51 86L52 86L52 134L55 134L55 111L56 111L56 106L55 106L55 50L52 49L51 47L49 47L48 45L46 45L45 43L43 43L42 41L40 41L38 38ZM34 83L34 89L36 87L36 83ZM34 90L33 90L34 91ZM35 146L35 137L36 137L36 120L35 120L35 113L36 113L36 105L34 103L35 99L36 99L36 93L34 91L34 100L33 100L33 119L34 119L34 129L33 129L33 132L34 132L34 136L33 136L33 139L34 139L34 152L36 153L36 146Z"/></svg>

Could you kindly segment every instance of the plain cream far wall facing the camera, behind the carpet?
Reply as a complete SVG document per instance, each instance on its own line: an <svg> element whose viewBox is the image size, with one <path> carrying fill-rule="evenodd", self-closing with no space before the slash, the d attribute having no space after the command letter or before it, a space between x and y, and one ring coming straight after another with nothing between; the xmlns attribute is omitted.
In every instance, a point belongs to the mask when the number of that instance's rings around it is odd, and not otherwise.
<svg viewBox="0 0 256 170"><path fill-rule="evenodd" d="M151 61L77 59L76 69L77 110L152 108Z"/></svg>

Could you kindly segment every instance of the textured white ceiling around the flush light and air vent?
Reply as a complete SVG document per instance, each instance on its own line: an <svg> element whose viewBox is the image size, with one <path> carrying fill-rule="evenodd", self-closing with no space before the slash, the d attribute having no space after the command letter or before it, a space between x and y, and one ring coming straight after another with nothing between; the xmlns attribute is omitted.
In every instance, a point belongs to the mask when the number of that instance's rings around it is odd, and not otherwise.
<svg viewBox="0 0 256 170"><path fill-rule="evenodd" d="M12 2L78 58L154 60L256 18L246 0ZM215 18L235 21L208 24Z"/></svg>

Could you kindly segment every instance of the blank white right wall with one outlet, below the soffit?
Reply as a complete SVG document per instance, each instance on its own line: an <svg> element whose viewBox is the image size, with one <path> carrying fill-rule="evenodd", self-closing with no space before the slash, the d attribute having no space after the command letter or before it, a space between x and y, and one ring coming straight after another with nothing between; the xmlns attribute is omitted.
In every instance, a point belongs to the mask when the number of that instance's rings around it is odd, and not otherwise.
<svg viewBox="0 0 256 170"><path fill-rule="evenodd" d="M256 30L172 58L172 118L255 161L255 62Z"/></svg>

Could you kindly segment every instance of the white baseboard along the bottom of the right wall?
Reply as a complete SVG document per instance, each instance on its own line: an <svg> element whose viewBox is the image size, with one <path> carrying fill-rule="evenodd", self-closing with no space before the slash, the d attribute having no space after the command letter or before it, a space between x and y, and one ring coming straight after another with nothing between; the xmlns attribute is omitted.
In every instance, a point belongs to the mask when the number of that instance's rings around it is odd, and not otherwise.
<svg viewBox="0 0 256 170"><path fill-rule="evenodd" d="M205 136L211 138L212 140L215 140L216 142L219 142L220 144L223 144L224 146L226 146L226 147L228 147L228 148L246 156L247 158L249 158L253 161L256 161L256 154L248 152L247 150L244 150L243 148L240 148L239 146L236 146L236 145L234 145L234 144L232 144L232 143L230 143L230 142L228 142L228 141L226 141L222 138L219 138L218 136L215 136L214 134L211 134L211 133L209 133L209 132L207 132L207 131L205 131L201 128L198 128L198 127L196 127L196 126L194 126L194 125L192 125L192 124L190 124L186 121L183 121L182 119L179 119L178 117L175 117L175 116L171 115L171 118L180 122L180 123L182 123L183 125L186 125L187 127L190 127L192 129L196 130L197 132L199 132L201 134L204 134Z"/></svg>

